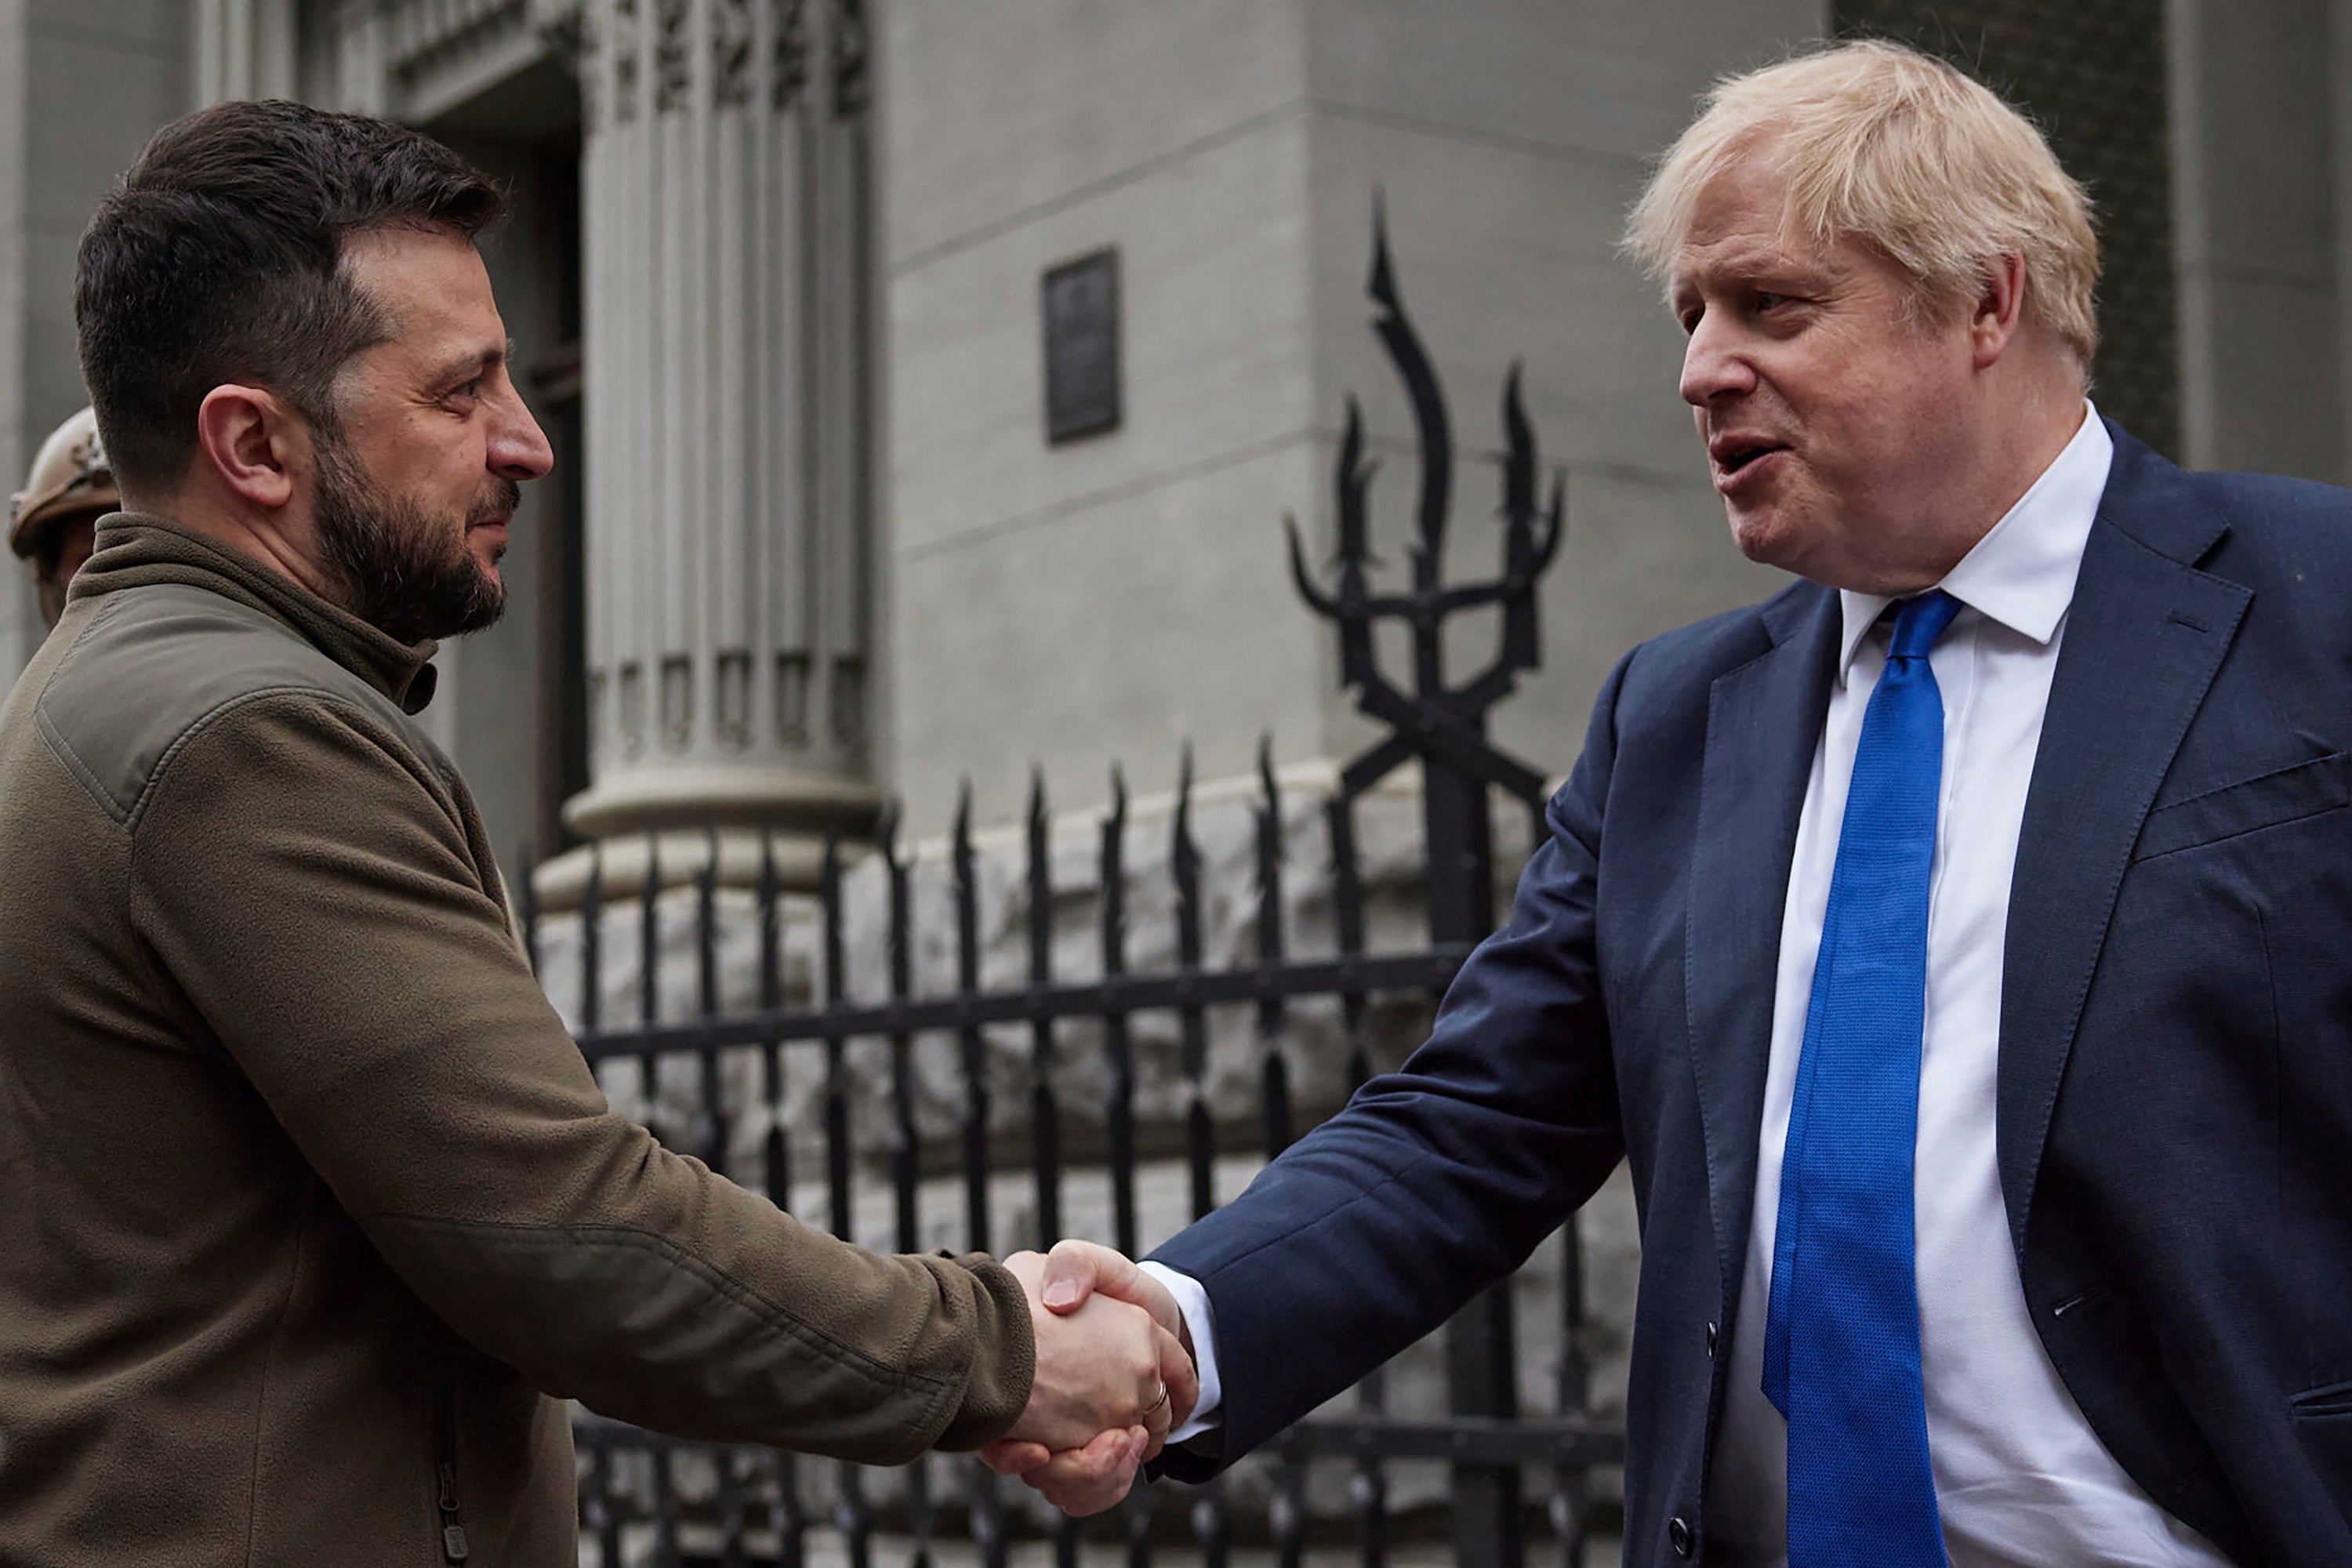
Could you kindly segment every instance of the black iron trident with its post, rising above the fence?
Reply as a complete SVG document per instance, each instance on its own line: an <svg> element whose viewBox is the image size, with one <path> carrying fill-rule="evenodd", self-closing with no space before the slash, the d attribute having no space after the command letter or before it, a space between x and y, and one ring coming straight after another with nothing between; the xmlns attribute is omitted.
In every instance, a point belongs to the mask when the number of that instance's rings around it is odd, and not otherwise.
<svg viewBox="0 0 2352 1568"><path fill-rule="evenodd" d="M1421 444L1421 503L1409 545L1411 588L1374 592L1367 491L1374 463L1364 456L1364 411L1348 397L1348 430L1338 447L1338 583L1331 592L1308 571L1298 522L1284 520L1291 538L1291 576L1298 592L1338 628L1341 684L1355 689L1357 708L1388 726L1388 738L1355 757L1331 797L1331 851L1341 877L1352 877L1355 802L1390 771L1418 757L1423 766L1423 827L1428 835L1430 938L1468 945L1494 931L1494 835L1489 790L1515 795L1529 811L1536 839L1543 832L1543 776L1486 741L1486 712L1541 661L1536 581L1559 555L1566 480L1555 473L1550 503L1536 510L1536 435L1519 400L1519 367L1503 381L1503 574L1484 583L1444 581L1446 512L1454 491L1454 437L1444 393L1404 315L1397 275L1388 261L1388 223L1374 205L1371 282L1374 329L1388 348L1414 404ZM1444 625L1470 609L1501 609L1494 661L1472 679L1449 686ZM1381 621L1402 621L1414 637L1411 689L1392 682L1374 646ZM1536 842L1531 839L1531 842ZM1359 889L1343 889L1341 907L1362 907ZM1359 1023L1350 1006L1350 1032ZM1578 1291L1573 1248L1569 1293ZM1571 1309L1573 1316L1573 1309ZM1583 1361L1562 1347L1559 1382L1566 1401L1583 1399ZM1465 1307L1446 1333L1446 1373L1454 1415L1508 1420L1517 1415L1517 1378L1510 1319L1510 1286L1496 1286ZM1562 1476L1566 1486L1566 1474ZM1522 1493L1515 1467L1454 1467L1454 1549L1463 1568L1517 1568L1522 1561Z"/></svg>

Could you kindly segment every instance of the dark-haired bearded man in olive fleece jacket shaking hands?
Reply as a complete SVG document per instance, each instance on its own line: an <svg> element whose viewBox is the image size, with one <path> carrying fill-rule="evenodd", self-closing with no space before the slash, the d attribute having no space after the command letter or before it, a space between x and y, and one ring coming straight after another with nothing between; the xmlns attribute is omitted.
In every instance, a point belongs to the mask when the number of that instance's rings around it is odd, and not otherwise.
<svg viewBox="0 0 2352 1568"><path fill-rule="evenodd" d="M0 1556L574 1563L562 1399L894 1465L1190 1408L1042 1260L882 1258L659 1147L513 940L414 715L548 442L379 120L223 103L82 235L125 510L0 708Z"/></svg>

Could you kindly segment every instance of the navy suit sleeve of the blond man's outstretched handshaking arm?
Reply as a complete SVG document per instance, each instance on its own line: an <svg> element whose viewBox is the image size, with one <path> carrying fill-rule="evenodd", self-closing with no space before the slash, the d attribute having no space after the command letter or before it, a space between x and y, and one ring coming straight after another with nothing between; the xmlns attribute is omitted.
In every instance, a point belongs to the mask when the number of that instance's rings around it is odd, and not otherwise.
<svg viewBox="0 0 2352 1568"><path fill-rule="evenodd" d="M1214 1458L1171 1448L1167 1474L1204 1479L1435 1331L1623 1157L1592 910L1625 663L1430 1039L1152 1253L1207 1288L1223 1385Z"/></svg>

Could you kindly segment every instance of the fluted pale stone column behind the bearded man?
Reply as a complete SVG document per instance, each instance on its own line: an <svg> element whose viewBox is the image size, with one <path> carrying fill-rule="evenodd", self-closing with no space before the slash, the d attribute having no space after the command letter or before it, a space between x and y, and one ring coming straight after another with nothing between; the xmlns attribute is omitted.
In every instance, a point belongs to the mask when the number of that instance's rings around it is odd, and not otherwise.
<svg viewBox="0 0 2352 1568"><path fill-rule="evenodd" d="M870 755L863 5L583 0L590 788L564 820L760 832L814 877ZM691 851L689 851L691 853ZM696 856L699 858L699 856ZM579 858L548 867L564 900ZM666 853L668 870L682 870Z"/></svg>

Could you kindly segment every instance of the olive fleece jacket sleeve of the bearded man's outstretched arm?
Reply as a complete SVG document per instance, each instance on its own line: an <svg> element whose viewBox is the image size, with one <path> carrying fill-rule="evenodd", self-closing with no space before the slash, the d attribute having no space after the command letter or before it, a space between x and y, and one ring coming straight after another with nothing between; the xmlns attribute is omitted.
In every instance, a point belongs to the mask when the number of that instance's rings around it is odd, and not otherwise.
<svg viewBox="0 0 2352 1568"><path fill-rule="evenodd" d="M445 785L372 715L247 698L134 816L132 914L393 1269L541 1389L896 1465L1028 1401L1021 1286L802 1227L607 1107Z"/></svg>

